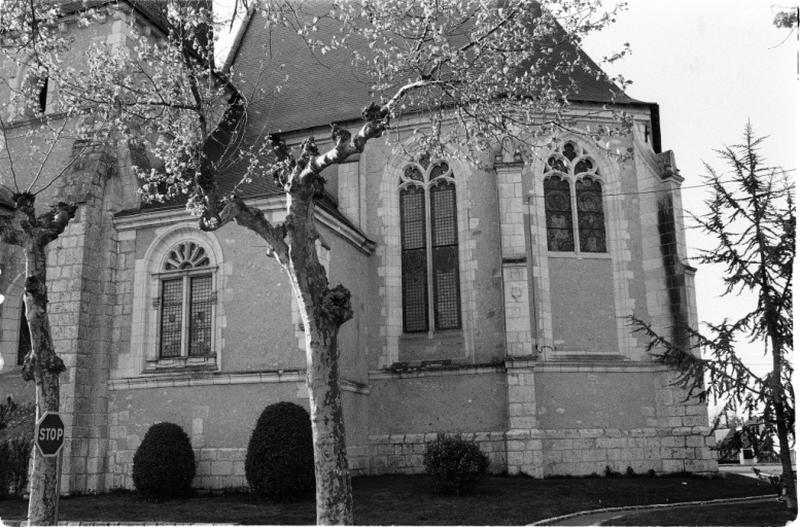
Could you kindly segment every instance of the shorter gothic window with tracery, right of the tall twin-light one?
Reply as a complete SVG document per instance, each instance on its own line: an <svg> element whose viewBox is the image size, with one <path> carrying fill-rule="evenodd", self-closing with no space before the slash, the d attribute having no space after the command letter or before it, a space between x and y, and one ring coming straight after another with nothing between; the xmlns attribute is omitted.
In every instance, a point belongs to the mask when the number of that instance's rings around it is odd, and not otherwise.
<svg viewBox="0 0 800 527"><path fill-rule="evenodd" d="M544 171L547 249L604 253L603 188L597 164L571 141L559 145Z"/></svg>

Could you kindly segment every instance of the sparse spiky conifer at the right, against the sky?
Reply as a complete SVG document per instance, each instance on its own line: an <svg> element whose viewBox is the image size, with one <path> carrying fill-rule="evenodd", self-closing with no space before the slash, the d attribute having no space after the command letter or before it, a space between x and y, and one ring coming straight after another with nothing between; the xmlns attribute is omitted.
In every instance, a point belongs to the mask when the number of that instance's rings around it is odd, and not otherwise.
<svg viewBox="0 0 800 527"><path fill-rule="evenodd" d="M755 304L737 320L706 323L703 332L676 328L671 338L650 324L634 319L637 331L649 339L656 360L675 368L677 382L690 396L722 402L723 412L738 408L778 436L786 487L786 503L797 508L791 447L794 442L792 387L792 269L795 255L794 186L783 170L770 167L759 153L764 138L748 124L744 142L725 147L720 157L724 174L706 166L712 196L708 212L695 217L698 227L716 246L700 250L701 264L721 264L726 295L755 294ZM742 361L737 341L763 345L772 367L761 375Z"/></svg>

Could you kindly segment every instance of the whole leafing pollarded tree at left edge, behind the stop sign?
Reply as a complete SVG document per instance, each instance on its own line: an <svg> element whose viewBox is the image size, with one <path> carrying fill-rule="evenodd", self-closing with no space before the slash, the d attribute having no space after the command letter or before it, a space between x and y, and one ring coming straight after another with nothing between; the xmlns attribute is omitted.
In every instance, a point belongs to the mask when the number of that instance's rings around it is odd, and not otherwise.
<svg viewBox="0 0 800 527"><path fill-rule="evenodd" d="M31 350L22 376L36 385L37 415L59 411L59 374L65 369L50 331L47 248L81 201L68 189L76 173L86 173L76 169L102 150L103 141L101 127L87 120L87 108L53 97L74 73L63 63L70 41L59 29L61 15L53 2L0 2L0 242L24 255ZM34 453L31 525L55 522L57 461Z"/></svg>

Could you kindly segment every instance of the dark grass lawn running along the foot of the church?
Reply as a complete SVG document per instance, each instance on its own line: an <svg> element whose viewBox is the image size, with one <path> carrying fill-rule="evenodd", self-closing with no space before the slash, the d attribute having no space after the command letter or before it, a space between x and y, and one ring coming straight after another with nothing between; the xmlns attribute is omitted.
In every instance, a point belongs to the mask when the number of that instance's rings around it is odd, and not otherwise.
<svg viewBox="0 0 800 527"><path fill-rule="evenodd" d="M734 474L696 477L550 478L492 476L471 496L440 496L426 476L353 480L355 520L366 525L523 525L585 509L770 494ZM26 502L0 501L0 518L21 520ZM148 503L135 493L62 498L62 521L312 524L314 501L273 504L251 494Z"/></svg>

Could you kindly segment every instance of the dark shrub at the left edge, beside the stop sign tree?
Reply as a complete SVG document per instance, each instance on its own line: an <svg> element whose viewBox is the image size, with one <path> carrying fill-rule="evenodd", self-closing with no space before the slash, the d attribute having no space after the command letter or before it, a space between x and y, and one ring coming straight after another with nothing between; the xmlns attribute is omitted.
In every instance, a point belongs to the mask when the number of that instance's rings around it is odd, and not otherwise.
<svg viewBox="0 0 800 527"><path fill-rule="evenodd" d="M35 421L33 404L17 404L11 397L0 403L0 498L22 496L28 487Z"/></svg>

